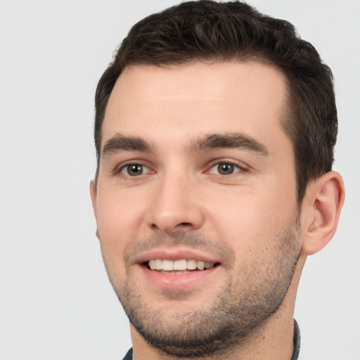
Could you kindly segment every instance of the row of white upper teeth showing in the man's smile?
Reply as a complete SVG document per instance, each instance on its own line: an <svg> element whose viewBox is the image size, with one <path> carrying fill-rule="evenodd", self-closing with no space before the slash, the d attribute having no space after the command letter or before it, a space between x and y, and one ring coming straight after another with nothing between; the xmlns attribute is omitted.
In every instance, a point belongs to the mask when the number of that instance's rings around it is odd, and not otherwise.
<svg viewBox="0 0 360 360"><path fill-rule="evenodd" d="M151 259L148 261L151 270L159 270L166 274L186 274L186 270L204 270L214 267L214 262L201 262L194 259L180 259L176 261Z"/></svg>

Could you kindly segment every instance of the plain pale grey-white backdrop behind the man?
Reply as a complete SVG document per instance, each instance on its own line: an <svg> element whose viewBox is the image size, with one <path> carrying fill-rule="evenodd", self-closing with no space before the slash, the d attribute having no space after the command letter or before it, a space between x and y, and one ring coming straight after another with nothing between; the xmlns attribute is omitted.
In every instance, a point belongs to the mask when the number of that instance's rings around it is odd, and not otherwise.
<svg viewBox="0 0 360 360"><path fill-rule="evenodd" d="M295 318L303 360L360 360L360 1L251 0L294 23L335 75L338 233L309 257ZM122 359L129 325L89 198L94 91L145 15L174 0L0 0L0 359Z"/></svg>

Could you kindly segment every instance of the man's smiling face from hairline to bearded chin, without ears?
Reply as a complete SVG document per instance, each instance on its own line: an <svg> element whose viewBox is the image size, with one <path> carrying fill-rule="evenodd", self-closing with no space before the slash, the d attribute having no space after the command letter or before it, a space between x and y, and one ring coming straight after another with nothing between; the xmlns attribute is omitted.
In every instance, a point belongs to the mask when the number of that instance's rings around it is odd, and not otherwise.
<svg viewBox="0 0 360 360"><path fill-rule="evenodd" d="M131 66L91 185L101 252L136 336L203 356L281 306L300 253L285 77L256 62Z"/></svg>

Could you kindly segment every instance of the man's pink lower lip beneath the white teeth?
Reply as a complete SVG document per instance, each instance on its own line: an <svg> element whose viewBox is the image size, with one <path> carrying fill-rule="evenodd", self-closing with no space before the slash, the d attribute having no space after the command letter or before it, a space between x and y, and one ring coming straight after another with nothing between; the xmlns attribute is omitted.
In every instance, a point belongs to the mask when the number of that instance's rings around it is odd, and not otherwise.
<svg viewBox="0 0 360 360"><path fill-rule="evenodd" d="M192 290L197 286L208 285L210 278L218 271L219 267L214 266L207 270L190 271L186 274L164 274L141 265L147 281L155 285L156 288L164 290Z"/></svg>

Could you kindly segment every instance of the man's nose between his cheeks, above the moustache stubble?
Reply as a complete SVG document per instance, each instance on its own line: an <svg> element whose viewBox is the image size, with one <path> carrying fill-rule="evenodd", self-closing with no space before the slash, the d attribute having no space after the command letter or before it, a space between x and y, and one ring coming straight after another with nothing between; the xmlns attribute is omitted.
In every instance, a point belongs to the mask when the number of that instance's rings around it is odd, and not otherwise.
<svg viewBox="0 0 360 360"><path fill-rule="evenodd" d="M184 174L163 176L157 182L146 222L153 230L169 235L199 229L204 211L195 181Z"/></svg>

